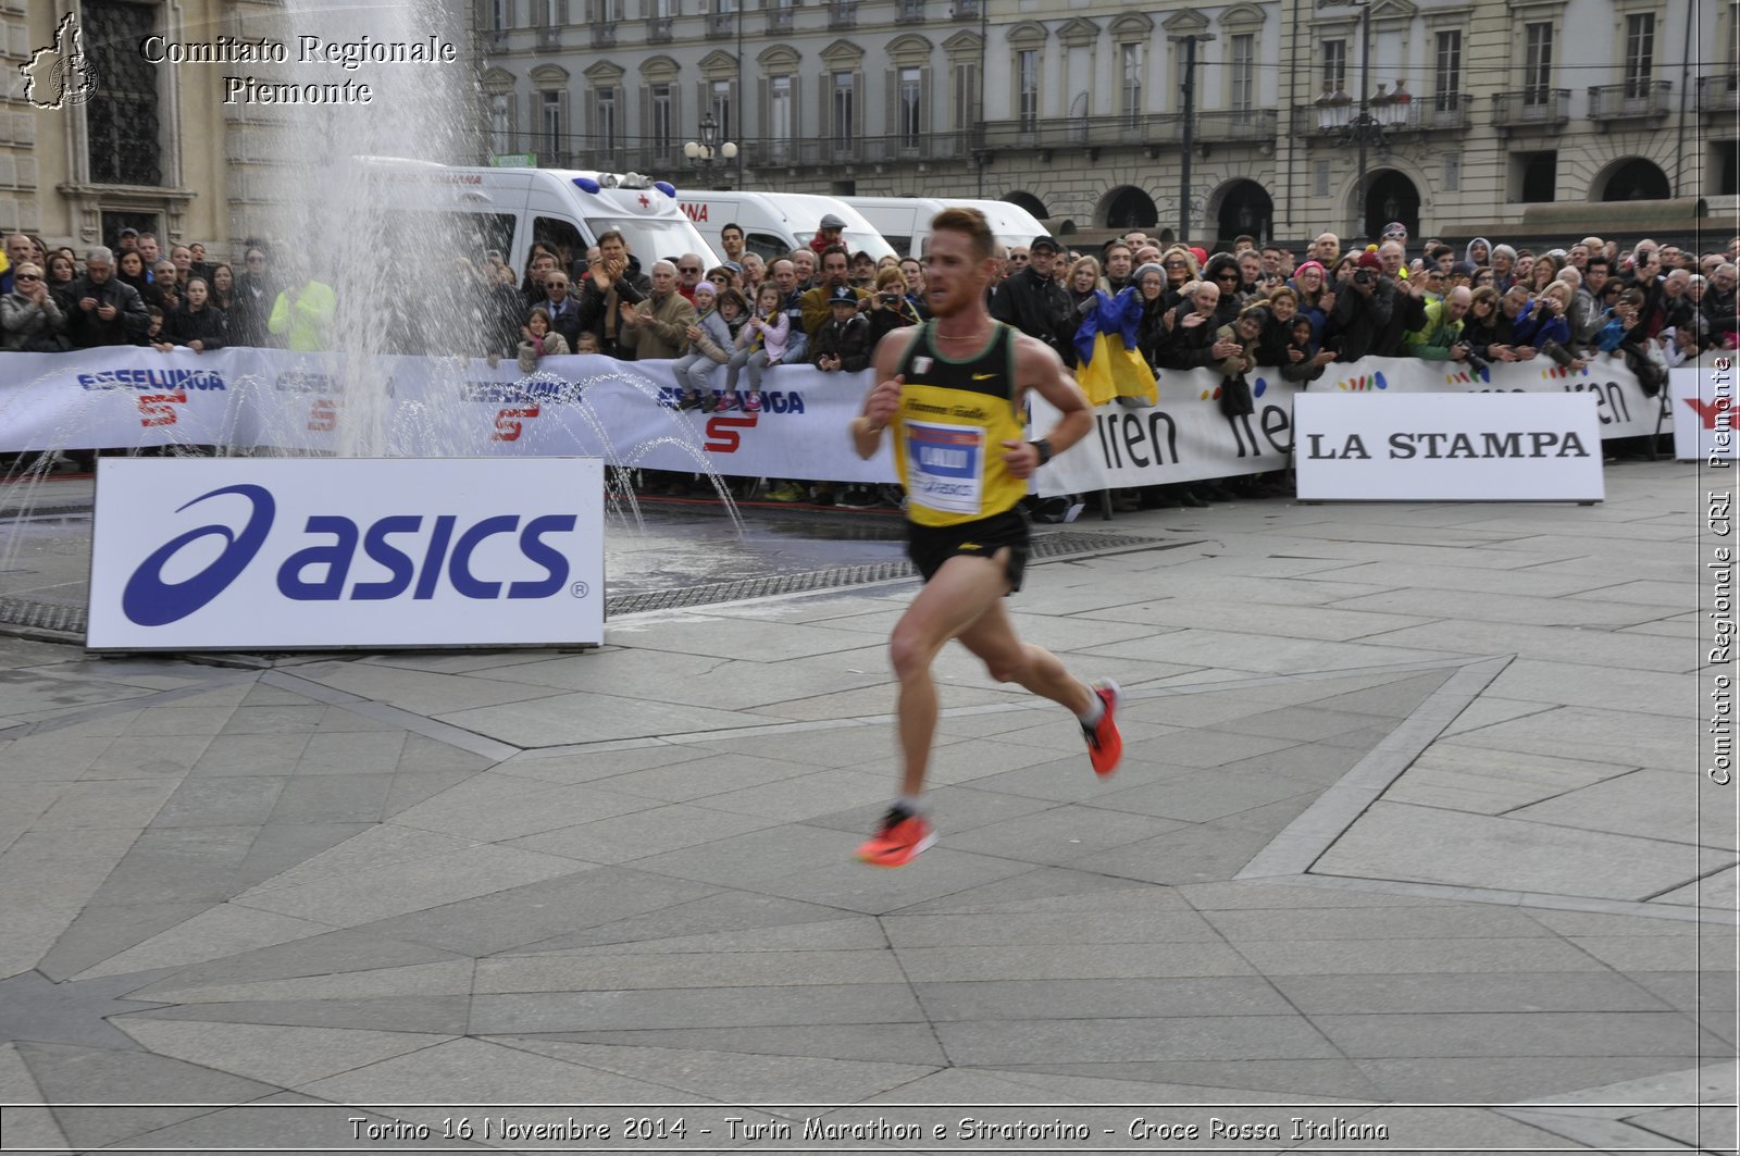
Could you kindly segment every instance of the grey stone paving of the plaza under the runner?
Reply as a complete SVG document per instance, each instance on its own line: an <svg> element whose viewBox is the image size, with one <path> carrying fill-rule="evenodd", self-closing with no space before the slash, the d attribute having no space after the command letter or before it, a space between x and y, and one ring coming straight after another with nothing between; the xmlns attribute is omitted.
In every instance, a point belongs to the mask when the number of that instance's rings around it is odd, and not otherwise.
<svg viewBox="0 0 1740 1156"><path fill-rule="evenodd" d="M1174 548L1039 564L1013 602L1126 686L1122 770L950 651L941 841L891 872L851 850L894 782L910 581L618 618L586 653L0 637L0 1144L976 1104L1129 1149L1731 1151L1695 496L1629 463L1590 508L1122 517ZM1131 1114L1354 1139L1143 1144Z"/></svg>

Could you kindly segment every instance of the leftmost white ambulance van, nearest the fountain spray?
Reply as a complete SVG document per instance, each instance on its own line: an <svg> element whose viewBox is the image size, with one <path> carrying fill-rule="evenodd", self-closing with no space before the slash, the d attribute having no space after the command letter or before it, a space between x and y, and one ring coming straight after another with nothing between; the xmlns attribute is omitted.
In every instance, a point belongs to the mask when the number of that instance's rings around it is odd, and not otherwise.
<svg viewBox="0 0 1740 1156"><path fill-rule="evenodd" d="M440 239L480 265L498 252L519 273L532 242L583 259L599 233L621 232L646 270L659 258L698 252L708 266L719 254L677 207L677 190L637 174L569 169L451 167L426 160L372 157L369 186L395 207L404 228Z"/></svg>

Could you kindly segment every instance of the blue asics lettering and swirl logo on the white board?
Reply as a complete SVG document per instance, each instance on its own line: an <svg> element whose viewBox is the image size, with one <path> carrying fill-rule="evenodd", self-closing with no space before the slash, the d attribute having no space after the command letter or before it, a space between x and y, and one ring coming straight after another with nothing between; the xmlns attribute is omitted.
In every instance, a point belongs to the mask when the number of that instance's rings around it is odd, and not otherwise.
<svg viewBox="0 0 1740 1156"><path fill-rule="evenodd" d="M122 590L122 613L130 622L181 622L216 601L256 561L275 568L273 585L296 602L428 601L445 590L477 601L543 599L564 590L569 578L567 555L546 538L572 533L579 521L574 514L392 514L360 526L343 514L313 514L291 529L278 524L271 491L252 484L212 489L176 514L207 501L214 505L204 507L202 517L228 517L171 538L139 562ZM525 564L515 568L520 575L477 573L478 548L496 536L513 536L517 559ZM219 541L218 557L198 573L171 580L188 559L209 555L209 543L195 547L204 540ZM358 554L374 562L374 575L385 576L351 581ZM499 564L499 548L492 554Z"/></svg>

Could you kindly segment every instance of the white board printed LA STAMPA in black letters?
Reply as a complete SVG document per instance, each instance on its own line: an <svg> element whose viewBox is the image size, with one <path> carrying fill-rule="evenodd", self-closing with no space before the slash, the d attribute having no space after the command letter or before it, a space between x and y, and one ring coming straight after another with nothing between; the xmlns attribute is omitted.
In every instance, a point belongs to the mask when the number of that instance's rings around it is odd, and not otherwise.
<svg viewBox="0 0 1740 1156"><path fill-rule="evenodd" d="M1594 399L1395 393L1295 399L1303 501L1601 501Z"/></svg>

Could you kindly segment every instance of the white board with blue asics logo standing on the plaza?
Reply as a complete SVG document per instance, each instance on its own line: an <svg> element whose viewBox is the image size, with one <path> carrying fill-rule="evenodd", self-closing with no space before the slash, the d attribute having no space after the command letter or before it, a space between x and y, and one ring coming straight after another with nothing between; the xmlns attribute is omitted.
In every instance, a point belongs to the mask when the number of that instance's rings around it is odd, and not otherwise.
<svg viewBox="0 0 1740 1156"><path fill-rule="evenodd" d="M103 458L92 649L604 641L597 458Z"/></svg>

